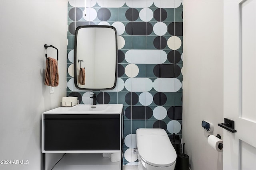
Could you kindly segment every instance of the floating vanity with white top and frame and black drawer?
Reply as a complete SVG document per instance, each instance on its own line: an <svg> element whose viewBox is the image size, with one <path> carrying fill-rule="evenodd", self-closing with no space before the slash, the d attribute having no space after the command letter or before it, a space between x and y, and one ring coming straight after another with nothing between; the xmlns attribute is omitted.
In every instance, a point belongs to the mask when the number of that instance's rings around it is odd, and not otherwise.
<svg viewBox="0 0 256 170"><path fill-rule="evenodd" d="M84 169L93 169L93 165L101 165L103 161L104 166L108 162L110 169L117 165L121 170L122 139L122 104L58 107L42 113L42 153L68 153L62 158L67 166L70 166L68 157L72 161L78 155L72 153L80 153L79 165L84 164ZM74 162L70 164L76 166Z"/></svg>

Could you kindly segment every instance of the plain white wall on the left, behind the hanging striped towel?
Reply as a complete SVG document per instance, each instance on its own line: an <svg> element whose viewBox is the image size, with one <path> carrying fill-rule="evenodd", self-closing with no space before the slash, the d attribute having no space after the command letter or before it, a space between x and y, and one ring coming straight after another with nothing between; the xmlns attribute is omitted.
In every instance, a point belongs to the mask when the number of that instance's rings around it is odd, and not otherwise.
<svg viewBox="0 0 256 170"><path fill-rule="evenodd" d="M0 0L0 16L0 160L12 163L0 169L40 170L41 113L66 96L67 1ZM53 94L44 85L44 44L59 50ZM56 58L55 49L47 53Z"/></svg>

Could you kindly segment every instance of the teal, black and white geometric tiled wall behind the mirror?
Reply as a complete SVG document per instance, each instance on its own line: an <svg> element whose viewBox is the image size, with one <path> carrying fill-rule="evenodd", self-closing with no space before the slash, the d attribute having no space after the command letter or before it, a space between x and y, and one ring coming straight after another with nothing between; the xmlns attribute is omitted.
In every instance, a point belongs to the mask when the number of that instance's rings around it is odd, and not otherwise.
<svg viewBox="0 0 256 170"><path fill-rule="evenodd" d="M182 135L181 0L84 0L68 2L67 96L80 104L124 105L124 164L136 164L138 128L162 128ZM74 86L74 34L80 25L112 25L118 33L118 80L108 91ZM99 134L100 135L100 134Z"/></svg>

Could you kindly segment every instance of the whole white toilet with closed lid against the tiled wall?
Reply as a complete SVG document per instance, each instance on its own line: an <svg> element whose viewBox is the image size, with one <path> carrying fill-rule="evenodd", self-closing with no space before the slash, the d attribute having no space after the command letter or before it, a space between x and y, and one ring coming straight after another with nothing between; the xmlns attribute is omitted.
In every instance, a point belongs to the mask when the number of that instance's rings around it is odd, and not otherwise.
<svg viewBox="0 0 256 170"><path fill-rule="evenodd" d="M174 170L177 154L164 129L137 129L139 170Z"/></svg>

